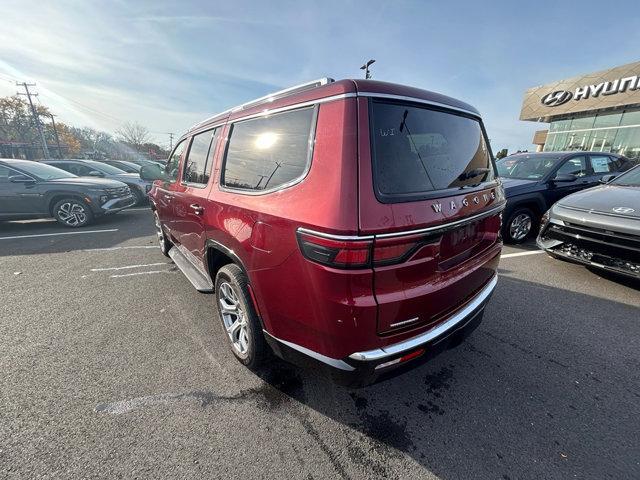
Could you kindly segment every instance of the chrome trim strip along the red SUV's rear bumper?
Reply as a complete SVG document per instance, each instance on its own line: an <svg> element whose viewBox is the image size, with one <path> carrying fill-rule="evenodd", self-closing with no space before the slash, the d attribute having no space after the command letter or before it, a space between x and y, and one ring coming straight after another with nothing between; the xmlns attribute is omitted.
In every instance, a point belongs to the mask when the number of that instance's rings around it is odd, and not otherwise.
<svg viewBox="0 0 640 480"><path fill-rule="evenodd" d="M395 343L384 348L376 348L374 350L367 350L366 352L356 352L349 355L349 358L359 361L372 361L381 360L392 355L397 355L406 350L419 347L420 345L427 343L440 335L446 333L458 324L464 322L469 316L480 308L491 296L493 290L498 283L498 276L495 275L489 283L478 293L475 298L469 302L462 310L455 313L449 320L442 322L431 330L418 335L417 337L410 338L403 342Z"/></svg>

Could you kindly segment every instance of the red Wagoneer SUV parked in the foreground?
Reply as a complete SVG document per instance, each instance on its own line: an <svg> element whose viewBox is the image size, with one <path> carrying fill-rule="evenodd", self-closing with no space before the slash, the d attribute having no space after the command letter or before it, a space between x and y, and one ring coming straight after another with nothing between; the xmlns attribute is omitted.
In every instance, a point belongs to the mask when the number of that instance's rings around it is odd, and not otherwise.
<svg viewBox="0 0 640 480"><path fill-rule="evenodd" d="M322 79L195 125L149 194L162 251L231 350L366 384L457 345L496 285L504 194L479 113Z"/></svg>

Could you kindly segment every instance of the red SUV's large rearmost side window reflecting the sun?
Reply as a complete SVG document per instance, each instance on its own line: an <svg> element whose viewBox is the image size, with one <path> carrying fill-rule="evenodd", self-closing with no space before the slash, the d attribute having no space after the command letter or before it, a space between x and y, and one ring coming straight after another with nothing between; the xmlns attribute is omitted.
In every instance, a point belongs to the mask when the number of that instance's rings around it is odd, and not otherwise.
<svg viewBox="0 0 640 480"><path fill-rule="evenodd" d="M310 107L234 124L222 185L263 192L302 179L311 162L314 119Z"/></svg>

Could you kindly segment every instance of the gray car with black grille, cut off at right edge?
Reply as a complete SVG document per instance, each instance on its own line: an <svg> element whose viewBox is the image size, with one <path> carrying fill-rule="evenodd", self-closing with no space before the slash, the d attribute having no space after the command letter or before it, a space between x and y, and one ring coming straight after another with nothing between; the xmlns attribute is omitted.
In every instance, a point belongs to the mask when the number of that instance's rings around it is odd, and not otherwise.
<svg viewBox="0 0 640 480"><path fill-rule="evenodd" d="M603 181L551 207L538 246L556 258L640 278L640 166Z"/></svg>

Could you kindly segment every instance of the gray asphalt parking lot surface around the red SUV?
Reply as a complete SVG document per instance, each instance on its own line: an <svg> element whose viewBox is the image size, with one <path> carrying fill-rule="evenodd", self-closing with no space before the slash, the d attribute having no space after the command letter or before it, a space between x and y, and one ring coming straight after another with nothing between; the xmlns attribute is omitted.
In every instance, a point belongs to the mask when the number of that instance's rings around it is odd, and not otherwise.
<svg viewBox="0 0 640 480"><path fill-rule="evenodd" d="M460 347L350 390L241 366L146 209L0 223L0 478L640 478L640 286L533 252Z"/></svg>

